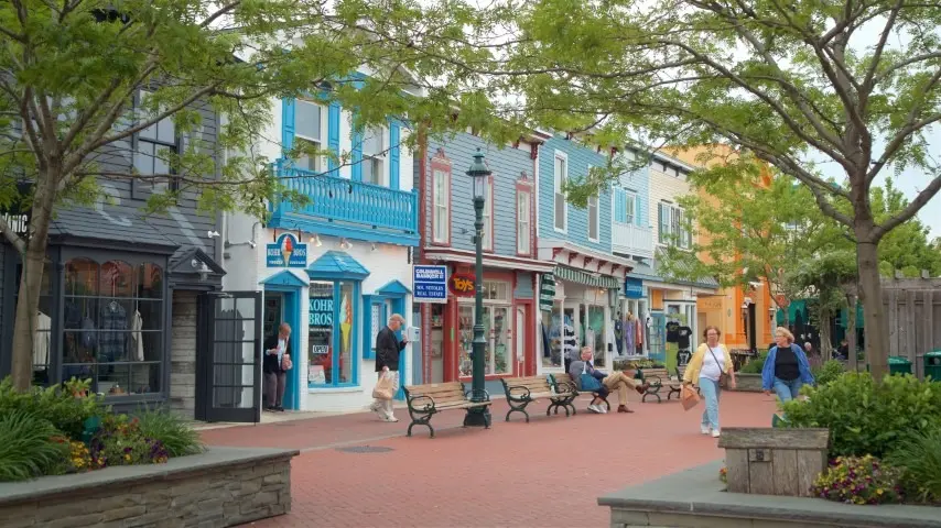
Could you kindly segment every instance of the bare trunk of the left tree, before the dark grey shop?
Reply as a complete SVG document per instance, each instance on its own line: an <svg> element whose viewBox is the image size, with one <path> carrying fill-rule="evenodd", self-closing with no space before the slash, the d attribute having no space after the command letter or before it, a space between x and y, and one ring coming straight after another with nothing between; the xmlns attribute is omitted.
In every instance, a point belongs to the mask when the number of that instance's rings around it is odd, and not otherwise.
<svg viewBox="0 0 941 528"><path fill-rule="evenodd" d="M36 330L36 316L43 284L46 246L48 245L48 228L55 198L53 190L55 184L50 183L48 176L43 176L40 174L36 182L26 253L20 255L23 260L23 273L20 276L17 316L13 327L13 354L10 365L13 386L18 391L28 391L33 381L33 338ZM55 180L57 179L52 182Z"/></svg>

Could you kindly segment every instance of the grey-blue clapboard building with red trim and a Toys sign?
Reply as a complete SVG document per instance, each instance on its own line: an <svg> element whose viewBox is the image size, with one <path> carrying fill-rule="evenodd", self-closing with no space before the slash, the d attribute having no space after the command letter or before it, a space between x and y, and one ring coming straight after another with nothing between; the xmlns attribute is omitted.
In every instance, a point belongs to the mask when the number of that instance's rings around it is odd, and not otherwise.
<svg viewBox="0 0 941 528"><path fill-rule="evenodd" d="M538 260L536 170L544 138L531 135L497 147L457 133L431 139L415 161L415 187L422 197L421 262L444 265L448 276L474 276L475 211L467 168L478 152L491 170L484 206L485 376L490 394L499 380L537 372L537 278L552 270ZM474 338L474 292L450 292L445 302L420 305L422 381L469 383Z"/></svg>

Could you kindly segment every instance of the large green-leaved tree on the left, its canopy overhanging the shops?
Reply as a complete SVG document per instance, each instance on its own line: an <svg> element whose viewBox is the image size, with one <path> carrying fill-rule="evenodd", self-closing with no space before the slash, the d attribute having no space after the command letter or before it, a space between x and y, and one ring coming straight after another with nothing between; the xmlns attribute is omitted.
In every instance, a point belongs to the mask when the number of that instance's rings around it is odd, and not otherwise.
<svg viewBox="0 0 941 528"><path fill-rule="evenodd" d="M15 386L26 388L31 378L30 329L36 326L51 220L63 206L101 199L102 179L172 177L179 190L155 193L148 204L153 211L187 190L198 191L199 208L207 212L239 209L263 217L264 200L275 193L303 200L284 193L269 168L271 160L253 146L271 123L275 98L320 91L325 81L329 100L358 110L356 127L400 116L439 133L484 129L490 108L483 91L423 58L431 54L422 35L399 37L421 28L425 16L445 29L482 23L469 7L418 9L359 0L0 3L0 207L32 209L26 237L0 218L0 233L28 272L14 322ZM442 26L429 34L446 47L451 41L440 38ZM473 55L473 50L447 53L461 61ZM370 76L351 76L360 70ZM424 84L424 94L423 78L435 80ZM144 90L149 97L140 96ZM201 123L199 106L225 116L215 145L191 134ZM453 110L457 106L459 114ZM158 154L172 175L143 176L102 163L102 154L128 148L133 134L167 118L180 134L190 134L183 152ZM25 195L17 186L22 180L33 184Z"/></svg>

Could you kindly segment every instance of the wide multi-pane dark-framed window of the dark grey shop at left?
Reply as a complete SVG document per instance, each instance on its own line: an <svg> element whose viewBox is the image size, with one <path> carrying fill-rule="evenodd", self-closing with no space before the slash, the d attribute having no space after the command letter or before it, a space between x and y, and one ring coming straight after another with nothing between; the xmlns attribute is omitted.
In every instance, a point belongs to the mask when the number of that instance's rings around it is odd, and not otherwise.
<svg viewBox="0 0 941 528"><path fill-rule="evenodd" d="M65 265L63 380L91 380L107 396L161 391L163 270L155 264Z"/></svg>

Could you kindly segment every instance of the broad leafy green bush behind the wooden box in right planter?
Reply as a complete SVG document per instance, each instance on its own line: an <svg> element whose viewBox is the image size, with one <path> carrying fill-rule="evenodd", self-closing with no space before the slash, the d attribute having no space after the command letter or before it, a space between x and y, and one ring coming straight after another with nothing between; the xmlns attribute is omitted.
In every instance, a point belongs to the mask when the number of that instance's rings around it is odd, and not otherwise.
<svg viewBox="0 0 941 528"><path fill-rule="evenodd" d="M787 427L829 428L834 458L883 458L909 436L941 427L941 383L906 375L876 384L868 373L847 372L804 391L808 400L783 406Z"/></svg>

